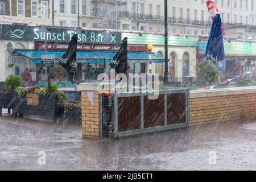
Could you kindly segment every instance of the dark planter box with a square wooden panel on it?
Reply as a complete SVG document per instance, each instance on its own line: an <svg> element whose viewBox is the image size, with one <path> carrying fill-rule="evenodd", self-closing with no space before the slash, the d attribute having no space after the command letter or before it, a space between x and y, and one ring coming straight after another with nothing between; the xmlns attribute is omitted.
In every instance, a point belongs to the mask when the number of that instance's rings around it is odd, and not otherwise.
<svg viewBox="0 0 256 182"><path fill-rule="evenodd" d="M56 95L27 94L26 97L16 97L13 113L15 113L15 116L19 113L21 115L30 114L57 118L63 113L63 109L57 106Z"/></svg>

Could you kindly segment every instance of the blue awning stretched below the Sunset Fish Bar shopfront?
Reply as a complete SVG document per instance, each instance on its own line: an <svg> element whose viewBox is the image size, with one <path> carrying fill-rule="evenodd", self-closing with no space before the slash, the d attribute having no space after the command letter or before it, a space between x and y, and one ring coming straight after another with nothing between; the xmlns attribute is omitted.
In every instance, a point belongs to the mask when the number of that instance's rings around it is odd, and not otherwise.
<svg viewBox="0 0 256 182"><path fill-rule="evenodd" d="M30 50L15 50L14 53L25 56L31 59L32 63L41 63L41 55L46 54L44 51L30 51ZM63 56L65 51L47 51L47 55L55 55L55 59L58 60ZM93 52L93 51L77 51L77 62L78 63L109 63L116 52ZM129 63L147 63L149 53L142 52L129 52L128 62ZM153 63L163 63L164 57L155 55L152 53Z"/></svg>

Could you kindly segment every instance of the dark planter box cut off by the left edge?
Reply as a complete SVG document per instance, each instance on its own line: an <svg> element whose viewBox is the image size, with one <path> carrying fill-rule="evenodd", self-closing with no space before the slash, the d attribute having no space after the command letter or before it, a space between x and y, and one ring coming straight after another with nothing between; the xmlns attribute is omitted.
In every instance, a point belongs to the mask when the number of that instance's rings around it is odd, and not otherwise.
<svg viewBox="0 0 256 182"><path fill-rule="evenodd" d="M13 109L13 101L14 101L14 93L8 92L0 92L0 116L2 116L2 109L8 109L8 113L10 113L10 109Z"/></svg>

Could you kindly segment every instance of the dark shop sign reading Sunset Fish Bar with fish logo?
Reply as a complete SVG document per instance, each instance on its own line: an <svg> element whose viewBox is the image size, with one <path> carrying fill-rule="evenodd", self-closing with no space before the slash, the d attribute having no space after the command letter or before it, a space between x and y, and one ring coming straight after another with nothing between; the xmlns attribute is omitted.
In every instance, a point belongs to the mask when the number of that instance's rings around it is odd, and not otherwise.
<svg viewBox="0 0 256 182"><path fill-rule="evenodd" d="M20 26L1 24L1 39L28 42L69 43L74 34L78 43L118 45L121 43L121 32L82 30L80 28L57 28L40 26Z"/></svg>

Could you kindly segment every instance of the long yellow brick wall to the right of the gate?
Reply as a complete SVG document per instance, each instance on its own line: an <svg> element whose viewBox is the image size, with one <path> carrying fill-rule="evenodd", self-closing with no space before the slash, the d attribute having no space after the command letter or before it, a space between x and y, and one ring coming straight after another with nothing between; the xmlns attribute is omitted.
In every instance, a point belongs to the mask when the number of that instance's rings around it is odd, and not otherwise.
<svg viewBox="0 0 256 182"><path fill-rule="evenodd" d="M191 125L256 118L256 93L190 98Z"/></svg>

